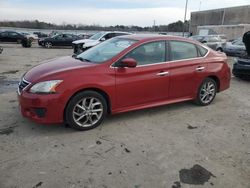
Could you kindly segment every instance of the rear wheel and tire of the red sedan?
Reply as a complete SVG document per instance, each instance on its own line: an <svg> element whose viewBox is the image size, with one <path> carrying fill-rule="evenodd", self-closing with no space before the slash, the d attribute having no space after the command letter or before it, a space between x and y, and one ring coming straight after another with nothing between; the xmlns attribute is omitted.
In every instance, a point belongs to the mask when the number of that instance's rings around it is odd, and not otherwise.
<svg viewBox="0 0 250 188"><path fill-rule="evenodd" d="M195 99L195 103L200 106L207 106L209 105L215 98L217 93L217 83L212 78L206 78L201 83L197 97Z"/></svg>

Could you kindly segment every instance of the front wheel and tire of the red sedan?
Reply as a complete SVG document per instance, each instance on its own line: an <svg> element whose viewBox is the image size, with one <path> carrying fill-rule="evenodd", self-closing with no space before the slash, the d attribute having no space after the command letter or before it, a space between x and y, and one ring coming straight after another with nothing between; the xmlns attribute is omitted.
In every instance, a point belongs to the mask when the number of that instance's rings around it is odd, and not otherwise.
<svg viewBox="0 0 250 188"><path fill-rule="evenodd" d="M83 91L69 101L65 113L66 123L70 127L90 130L98 127L106 117L107 102L95 91Z"/></svg>

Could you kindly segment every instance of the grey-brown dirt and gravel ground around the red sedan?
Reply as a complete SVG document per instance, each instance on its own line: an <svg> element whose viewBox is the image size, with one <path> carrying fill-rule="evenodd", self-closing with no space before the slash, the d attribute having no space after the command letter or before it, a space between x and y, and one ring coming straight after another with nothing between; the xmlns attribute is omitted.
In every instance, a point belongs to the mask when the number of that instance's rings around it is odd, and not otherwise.
<svg viewBox="0 0 250 188"><path fill-rule="evenodd" d="M1 188L250 187L249 82L232 78L207 107L185 102L123 113L77 132L21 117L16 99L22 74L72 49L1 46Z"/></svg>

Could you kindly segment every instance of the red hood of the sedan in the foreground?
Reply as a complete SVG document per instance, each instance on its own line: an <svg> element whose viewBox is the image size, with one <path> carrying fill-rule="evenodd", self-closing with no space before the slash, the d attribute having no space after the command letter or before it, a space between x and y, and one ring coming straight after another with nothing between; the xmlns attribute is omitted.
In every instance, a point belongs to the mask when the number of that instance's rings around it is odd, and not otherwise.
<svg viewBox="0 0 250 188"><path fill-rule="evenodd" d="M48 76L55 75L64 71L85 68L94 66L95 64L82 62L71 56L61 57L45 61L42 64L33 67L25 75L24 79L29 82L37 82L41 79L45 79Z"/></svg>

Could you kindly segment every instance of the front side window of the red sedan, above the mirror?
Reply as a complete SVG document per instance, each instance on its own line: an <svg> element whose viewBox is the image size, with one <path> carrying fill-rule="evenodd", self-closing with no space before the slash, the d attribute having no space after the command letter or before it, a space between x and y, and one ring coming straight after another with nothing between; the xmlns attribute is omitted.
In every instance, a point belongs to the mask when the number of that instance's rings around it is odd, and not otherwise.
<svg viewBox="0 0 250 188"><path fill-rule="evenodd" d="M143 44L128 53L124 58L135 59L137 61L137 65L148 65L165 62L166 43L165 41L159 41Z"/></svg>

